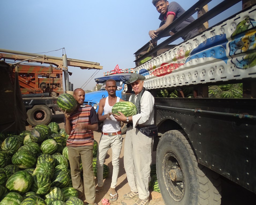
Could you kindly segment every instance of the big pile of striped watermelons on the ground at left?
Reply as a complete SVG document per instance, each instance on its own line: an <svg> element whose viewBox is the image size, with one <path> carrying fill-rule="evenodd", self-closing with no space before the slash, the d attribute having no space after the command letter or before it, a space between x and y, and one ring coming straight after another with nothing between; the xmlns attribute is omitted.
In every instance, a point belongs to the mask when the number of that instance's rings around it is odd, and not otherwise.
<svg viewBox="0 0 256 205"><path fill-rule="evenodd" d="M67 138L55 122L19 135L0 132L0 205L83 205L72 187Z"/></svg>

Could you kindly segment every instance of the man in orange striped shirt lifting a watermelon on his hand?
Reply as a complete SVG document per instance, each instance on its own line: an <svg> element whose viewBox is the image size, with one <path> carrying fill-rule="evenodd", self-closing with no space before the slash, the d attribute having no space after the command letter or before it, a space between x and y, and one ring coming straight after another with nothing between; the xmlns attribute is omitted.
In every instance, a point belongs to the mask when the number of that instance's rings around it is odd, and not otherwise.
<svg viewBox="0 0 256 205"><path fill-rule="evenodd" d="M74 90L77 108L65 115L65 131L67 139L68 158L71 168L72 184L79 193L79 198L88 204L95 203L95 182L92 170L93 131L98 130L98 117L90 105L83 105L85 93L83 89ZM80 163L83 167L83 182L80 175Z"/></svg>

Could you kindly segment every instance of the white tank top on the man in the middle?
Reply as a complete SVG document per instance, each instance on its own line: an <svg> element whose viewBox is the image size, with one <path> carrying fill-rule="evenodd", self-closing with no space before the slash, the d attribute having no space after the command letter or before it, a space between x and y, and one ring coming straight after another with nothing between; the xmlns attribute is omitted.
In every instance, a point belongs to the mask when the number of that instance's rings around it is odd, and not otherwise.
<svg viewBox="0 0 256 205"><path fill-rule="evenodd" d="M117 97L116 102L119 102L119 100L120 100L120 97ZM113 106L109 106L109 97L106 97L105 106L103 108L104 115L112 112L112 107ZM112 132L118 132L120 130L121 130L120 121L117 121L113 115L110 116L110 119L104 120L103 126L102 126L102 132L112 133Z"/></svg>

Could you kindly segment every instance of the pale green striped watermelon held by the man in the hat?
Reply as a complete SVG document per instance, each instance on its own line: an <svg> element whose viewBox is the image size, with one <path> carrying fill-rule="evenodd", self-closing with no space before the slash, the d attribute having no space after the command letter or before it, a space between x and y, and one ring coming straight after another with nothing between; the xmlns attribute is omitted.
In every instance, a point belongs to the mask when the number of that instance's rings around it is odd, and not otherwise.
<svg viewBox="0 0 256 205"><path fill-rule="evenodd" d="M112 113L116 115L120 115L118 112L121 112L125 115L125 117L136 115L137 108L132 102L121 101L117 102L112 107Z"/></svg>

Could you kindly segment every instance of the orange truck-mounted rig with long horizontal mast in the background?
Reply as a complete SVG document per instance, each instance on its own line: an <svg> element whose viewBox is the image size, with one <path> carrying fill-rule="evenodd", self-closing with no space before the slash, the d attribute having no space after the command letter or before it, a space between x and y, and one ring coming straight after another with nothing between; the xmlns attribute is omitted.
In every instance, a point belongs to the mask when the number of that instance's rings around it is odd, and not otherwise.
<svg viewBox="0 0 256 205"><path fill-rule="evenodd" d="M32 126L49 124L52 114L59 111L58 96L73 91L73 84L69 82L69 75L72 73L68 72L68 66L102 69L97 62L67 58L66 54L62 57L54 57L6 49L0 49L0 52L3 52L0 53L0 60L11 60L10 66L13 69L11 76L13 80L16 77L19 82L27 112L27 122ZM62 73L64 73L65 91Z"/></svg>

